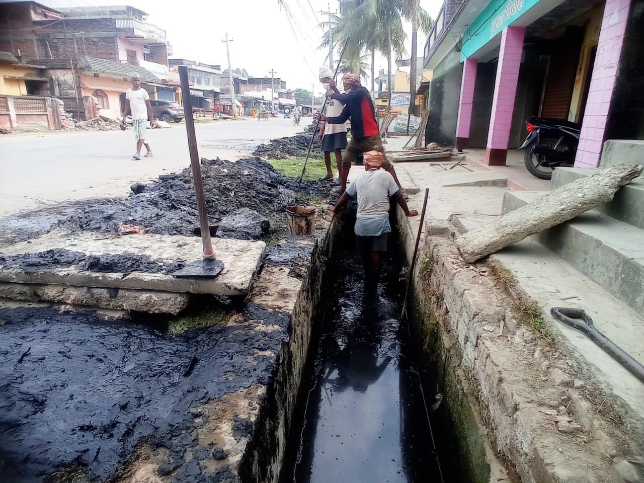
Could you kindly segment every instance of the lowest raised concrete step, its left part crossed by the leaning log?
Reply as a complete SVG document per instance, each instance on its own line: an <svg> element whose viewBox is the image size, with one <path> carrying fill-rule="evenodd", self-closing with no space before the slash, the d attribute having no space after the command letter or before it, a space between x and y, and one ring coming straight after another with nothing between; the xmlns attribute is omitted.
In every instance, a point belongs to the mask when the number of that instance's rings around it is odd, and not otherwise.
<svg viewBox="0 0 644 483"><path fill-rule="evenodd" d="M508 191L503 213L543 194ZM644 312L644 230L591 210L533 238L627 305Z"/></svg>

